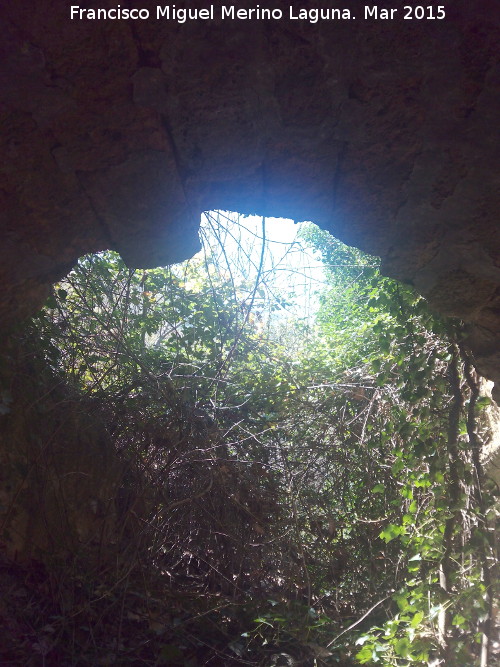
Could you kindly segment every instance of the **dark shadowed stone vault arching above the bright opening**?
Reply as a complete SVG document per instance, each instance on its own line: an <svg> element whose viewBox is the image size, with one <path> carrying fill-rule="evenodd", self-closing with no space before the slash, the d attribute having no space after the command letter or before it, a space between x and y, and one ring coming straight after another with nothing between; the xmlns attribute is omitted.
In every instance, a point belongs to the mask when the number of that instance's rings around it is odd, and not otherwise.
<svg viewBox="0 0 500 667"><path fill-rule="evenodd" d="M356 20L228 21L215 3L214 21L179 25L151 3L134 5L147 21L2 3L2 323L83 253L179 261L200 212L228 209L380 255L470 323L500 379L498 3L443 0L442 21L349 4Z"/></svg>

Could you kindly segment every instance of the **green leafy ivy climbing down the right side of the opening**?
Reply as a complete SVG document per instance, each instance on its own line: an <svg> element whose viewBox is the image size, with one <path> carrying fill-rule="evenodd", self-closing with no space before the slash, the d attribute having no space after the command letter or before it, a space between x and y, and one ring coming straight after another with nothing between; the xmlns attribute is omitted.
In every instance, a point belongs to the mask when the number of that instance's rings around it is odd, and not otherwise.
<svg viewBox="0 0 500 667"><path fill-rule="evenodd" d="M461 327L380 276L358 251L315 229L308 235L332 269L322 330L370 378L363 436L389 471L369 493L384 496L378 537L388 548L396 544L400 577L388 619L357 639L356 657L362 664L487 665L495 559L487 508L495 498L483 484L477 420L488 399L479 399ZM346 254L347 289L333 270Z"/></svg>

